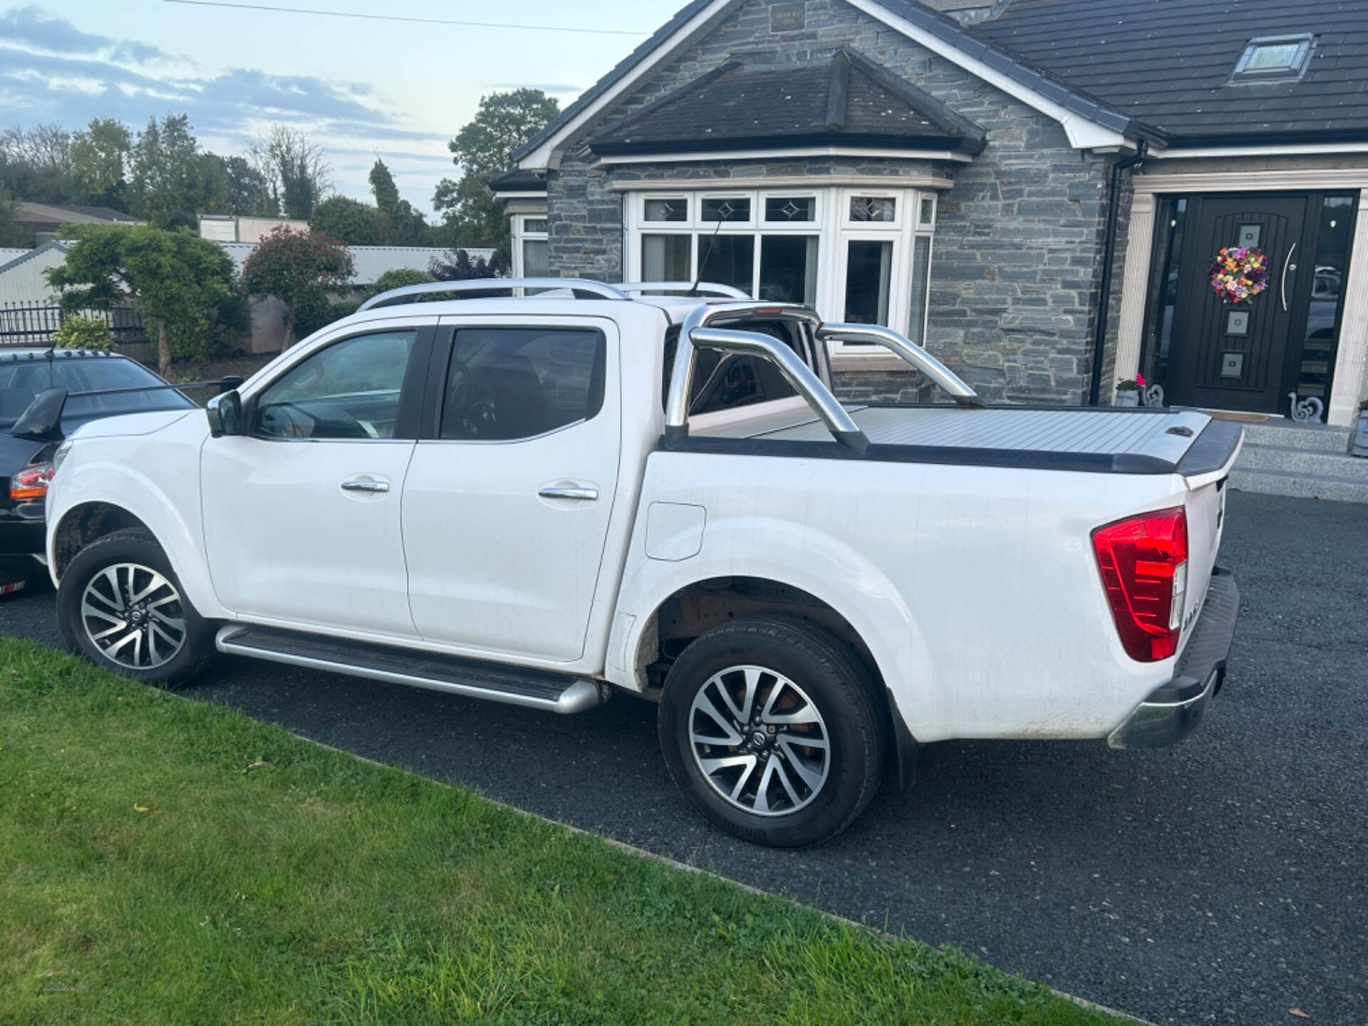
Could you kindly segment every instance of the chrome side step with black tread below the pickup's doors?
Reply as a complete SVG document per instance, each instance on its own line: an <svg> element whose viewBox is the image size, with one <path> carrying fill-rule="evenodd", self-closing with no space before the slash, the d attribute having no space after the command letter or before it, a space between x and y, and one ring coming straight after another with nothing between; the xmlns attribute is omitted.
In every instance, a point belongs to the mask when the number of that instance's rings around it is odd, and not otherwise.
<svg viewBox="0 0 1368 1026"><path fill-rule="evenodd" d="M606 685L587 677L420 653L346 637L233 624L213 639L228 655L346 673L551 713L583 713L602 705Z"/></svg>

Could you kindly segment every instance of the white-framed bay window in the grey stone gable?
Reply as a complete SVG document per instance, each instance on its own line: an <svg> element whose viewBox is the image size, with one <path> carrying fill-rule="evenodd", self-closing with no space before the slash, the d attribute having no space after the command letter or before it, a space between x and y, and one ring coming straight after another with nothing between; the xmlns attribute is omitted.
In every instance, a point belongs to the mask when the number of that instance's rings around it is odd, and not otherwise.
<svg viewBox="0 0 1368 1026"><path fill-rule="evenodd" d="M918 189L633 192L624 278L731 285L922 343L934 228L936 194ZM884 350L833 343L833 353Z"/></svg>

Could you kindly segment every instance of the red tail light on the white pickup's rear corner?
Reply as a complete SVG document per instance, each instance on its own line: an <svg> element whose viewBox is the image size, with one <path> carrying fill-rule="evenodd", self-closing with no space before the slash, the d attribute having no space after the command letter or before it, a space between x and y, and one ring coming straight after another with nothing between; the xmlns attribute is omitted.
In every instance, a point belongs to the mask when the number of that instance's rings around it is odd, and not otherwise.
<svg viewBox="0 0 1368 1026"><path fill-rule="evenodd" d="M1187 599L1187 512L1175 506L1100 527L1093 550L1126 654L1155 662L1178 651Z"/></svg>

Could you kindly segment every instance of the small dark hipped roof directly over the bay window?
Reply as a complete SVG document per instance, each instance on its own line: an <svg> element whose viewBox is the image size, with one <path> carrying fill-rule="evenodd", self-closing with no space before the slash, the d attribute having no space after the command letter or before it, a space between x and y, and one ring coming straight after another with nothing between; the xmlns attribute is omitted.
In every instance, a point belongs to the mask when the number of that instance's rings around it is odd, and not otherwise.
<svg viewBox="0 0 1368 1026"><path fill-rule="evenodd" d="M594 135L590 149L611 155L859 145L978 153L985 138L981 127L910 82L840 51L822 64L729 62Z"/></svg>

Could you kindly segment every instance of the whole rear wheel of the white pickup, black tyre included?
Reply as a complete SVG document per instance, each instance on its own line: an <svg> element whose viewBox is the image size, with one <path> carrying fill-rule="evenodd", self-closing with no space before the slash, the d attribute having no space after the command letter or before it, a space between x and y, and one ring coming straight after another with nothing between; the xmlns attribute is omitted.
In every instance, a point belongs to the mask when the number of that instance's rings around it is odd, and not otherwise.
<svg viewBox="0 0 1368 1026"><path fill-rule="evenodd" d="M666 677L665 765L728 833L817 844L878 791L885 729L876 694L859 659L803 620L724 624L695 639Z"/></svg>

